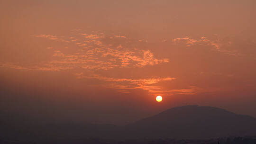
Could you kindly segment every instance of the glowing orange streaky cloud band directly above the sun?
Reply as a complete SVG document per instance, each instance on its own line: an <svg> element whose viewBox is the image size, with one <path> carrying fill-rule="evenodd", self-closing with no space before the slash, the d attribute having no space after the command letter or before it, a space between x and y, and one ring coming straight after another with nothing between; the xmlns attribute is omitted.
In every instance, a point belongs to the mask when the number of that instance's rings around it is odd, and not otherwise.
<svg viewBox="0 0 256 144"><path fill-rule="evenodd" d="M164 81L173 81L176 78L172 77L165 77L165 78L148 78L148 79L127 79L127 78L110 78L105 76L100 76L97 74L93 74L91 76L84 75L83 72L75 73L74 74L77 79L97 79L101 81L105 81L101 85L102 87L108 87L112 89L116 89L117 92L122 93L129 93L131 90L146 90L151 95L197 95L198 93L202 92L209 92L209 91L217 91L218 89L202 89L197 86L189 86L188 88L184 89L172 89L170 87L164 87L160 84L160 82Z"/></svg>

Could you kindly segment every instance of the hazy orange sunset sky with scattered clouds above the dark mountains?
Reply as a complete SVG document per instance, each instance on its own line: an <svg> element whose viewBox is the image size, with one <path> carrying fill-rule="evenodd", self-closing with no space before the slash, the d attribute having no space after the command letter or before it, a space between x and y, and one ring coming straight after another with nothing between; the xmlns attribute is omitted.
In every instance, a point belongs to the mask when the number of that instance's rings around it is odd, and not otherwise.
<svg viewBox="0 0 256 144"><path fill-rule="evenodd" d="M2 112L125 125L201 105L256 117L255 0L0 0L0 17Z"/></svg>

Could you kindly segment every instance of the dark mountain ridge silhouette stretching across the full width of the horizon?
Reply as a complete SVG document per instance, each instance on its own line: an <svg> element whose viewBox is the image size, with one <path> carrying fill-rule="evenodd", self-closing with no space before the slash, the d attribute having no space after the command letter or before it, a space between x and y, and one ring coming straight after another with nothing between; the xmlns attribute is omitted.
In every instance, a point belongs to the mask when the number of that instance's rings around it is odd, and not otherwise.
<svg viewBox="0 0 256 144"><path fill-rule="evenodd" d="M127 126L81 123L43 124L29 121L26 116L21 115L2 116L4 117L0 121L0 140L11 142L73 141L90 137L119 140L208 139L256 135L256 118L238 115L220 108L201 106L171 108Z"/></svg>

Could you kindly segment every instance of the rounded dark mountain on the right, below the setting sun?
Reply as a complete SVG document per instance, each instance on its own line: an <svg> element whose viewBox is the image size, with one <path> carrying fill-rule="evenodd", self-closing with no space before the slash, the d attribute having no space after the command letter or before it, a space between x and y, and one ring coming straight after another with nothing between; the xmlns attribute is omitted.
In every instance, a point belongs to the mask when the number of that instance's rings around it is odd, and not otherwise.
<svg viewBox="0 0 256 144"><path fill-rule="evenodd" d="M183 106L126 126L131 137L205 139L256 135L256 118L221 108Z"/></svg>

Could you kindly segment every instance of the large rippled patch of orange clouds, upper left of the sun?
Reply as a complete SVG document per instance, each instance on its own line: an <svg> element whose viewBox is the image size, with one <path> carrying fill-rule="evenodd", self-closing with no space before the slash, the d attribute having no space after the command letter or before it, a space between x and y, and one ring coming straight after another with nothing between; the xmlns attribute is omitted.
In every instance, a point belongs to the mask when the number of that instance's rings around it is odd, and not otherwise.
<svg viewBox="0 0 256 144"><path fill-rule="evenodd" d="M56 38L57 40L60 36L38 35L37 37ZM84 39L81 37L86 38L86 40L80 41L79 39ZM71 39L71 43L78 47L83 47L83 49L73 49L72 53L69 51L61 53L59 50L55 50L53 54L54 60L44 64L55 64L55 66L64 65L70 68L82 68L88 70L109 70L112 68L135 68L144 67L146 65L153 66L155 64L169 62L167 58L155 58L150 50L129 48L122 45L118 40L113 39L112 43L105 44L103 38L110 37L126 38L126 36L105 35L100 32L93 32L92 34L79 33L76 34L76 37L68 36L68 39ZM61 38L64 40L64 37ZM128 42L129 41L125 41L124 44L127 45Z"/></svg>

